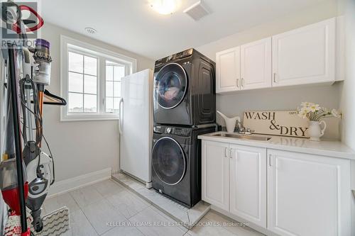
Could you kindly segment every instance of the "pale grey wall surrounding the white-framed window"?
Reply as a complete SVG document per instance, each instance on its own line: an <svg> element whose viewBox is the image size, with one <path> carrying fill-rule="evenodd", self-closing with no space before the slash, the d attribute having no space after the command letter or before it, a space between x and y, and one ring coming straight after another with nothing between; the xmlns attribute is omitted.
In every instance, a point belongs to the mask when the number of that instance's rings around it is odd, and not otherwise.
<svg viewBox="0 0 355 236"><path fill-rule="evenodd" d="M153 68L154 62L150 59L45 23L42 38L50 41L53 58L52 78L47 89L53 94L60 94L60 35L133 57L137 60L137 71ZM60 122L58 106L45 106L43 118L44 135L55 157L57 181L109 167L114 171L119 169L118 120Z"/></svg>

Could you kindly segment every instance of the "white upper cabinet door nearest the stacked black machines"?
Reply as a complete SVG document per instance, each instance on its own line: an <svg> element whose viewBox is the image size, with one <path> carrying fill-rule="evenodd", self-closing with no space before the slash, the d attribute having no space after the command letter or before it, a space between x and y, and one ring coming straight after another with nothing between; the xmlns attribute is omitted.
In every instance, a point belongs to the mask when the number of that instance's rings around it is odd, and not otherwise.
<svg viewBox="0 0 355 236"><path fill-rule="evenodd" d="M217 52L217 94L240 90L240 58L240 47L234 47L229 50Z"/></svg>

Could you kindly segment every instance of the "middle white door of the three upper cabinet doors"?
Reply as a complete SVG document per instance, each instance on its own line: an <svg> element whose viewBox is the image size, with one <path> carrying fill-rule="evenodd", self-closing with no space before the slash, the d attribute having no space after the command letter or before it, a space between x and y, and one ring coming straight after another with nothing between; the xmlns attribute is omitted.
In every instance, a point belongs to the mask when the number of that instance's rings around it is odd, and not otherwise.
<svg viewBox="0 0 355 236"><path fill-rule="evenodd" d="M241 45L241 89L271 87L271 38Z"/></svg>

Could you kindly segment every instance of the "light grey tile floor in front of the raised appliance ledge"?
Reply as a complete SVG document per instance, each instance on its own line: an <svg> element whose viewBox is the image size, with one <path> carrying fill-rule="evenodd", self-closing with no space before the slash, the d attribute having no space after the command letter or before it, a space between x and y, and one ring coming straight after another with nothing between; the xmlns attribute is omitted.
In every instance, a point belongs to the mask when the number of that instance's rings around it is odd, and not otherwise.
<svg viewBox="0 0 355 236"><path fill-rule="evenodd" d="M43 211L70 208L70 232L65 236L261 236L249 227L231 226L231 221L209 211L199 224L187 230L126 187L112 180L45 200ZM227 225L227 226L225 226Z"/></svg>

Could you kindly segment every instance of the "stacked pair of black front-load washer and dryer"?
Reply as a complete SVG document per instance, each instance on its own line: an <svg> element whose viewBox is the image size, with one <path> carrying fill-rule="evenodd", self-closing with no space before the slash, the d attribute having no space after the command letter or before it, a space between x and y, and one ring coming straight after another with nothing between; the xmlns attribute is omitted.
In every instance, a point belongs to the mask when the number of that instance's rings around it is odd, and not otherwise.
<svg viewBox="0 0 355 236"><path fill-rule="evenodd" d="M201 141L216 131L215 63L195 49L155 62L153 189L192 207L201 200Z"/></svg>

